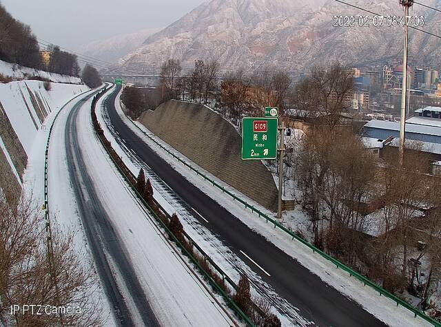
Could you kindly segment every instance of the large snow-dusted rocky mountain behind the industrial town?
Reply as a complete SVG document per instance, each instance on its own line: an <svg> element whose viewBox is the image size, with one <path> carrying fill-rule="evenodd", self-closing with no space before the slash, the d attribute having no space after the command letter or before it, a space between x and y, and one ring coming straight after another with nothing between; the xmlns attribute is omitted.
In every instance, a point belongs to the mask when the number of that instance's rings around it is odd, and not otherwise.
<svg viewBox="0 0 441 327"><path fill-rule="evenodd" d="M347 2L384 17L404 13L398 0ZM424 4L440 8L441 0L425 0ZM356 19L352 26L334 26L338 25L334 17L340 16ZM419 28L441 35L439 12L415 4L411 16L424 17L424 26ZM300 72L337 60L360 65L400 56L402 25L389 26L389 19L384 18L381 26L380 19L374 26L372 20L367 22L373 17L334 0L212 0L149 36L119 63L145 70L174 58L190 70L196 59L216 59L223 70L277 67ZM409 40L409 54L420 65L441 68L440 39L411 29Z"/></svg>

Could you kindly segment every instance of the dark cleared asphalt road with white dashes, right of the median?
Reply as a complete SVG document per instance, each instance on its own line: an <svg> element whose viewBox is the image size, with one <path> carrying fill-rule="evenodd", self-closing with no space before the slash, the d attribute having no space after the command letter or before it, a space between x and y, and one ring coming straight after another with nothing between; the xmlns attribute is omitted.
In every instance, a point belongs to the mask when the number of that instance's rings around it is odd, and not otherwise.
<svg viewBox="0 0 441 327"><path fill-rule="evenodd" d="M356 302L322 282L292 257L255 233L176 172L141 138L125 125L114 107L117 87L105 100L112 125L127 147L136 153L164 182L180 196L194 217L271 285L278 295L300 310L300 314L318 326L386 326ZM208 222L207 222L208 221Z"/></svg>

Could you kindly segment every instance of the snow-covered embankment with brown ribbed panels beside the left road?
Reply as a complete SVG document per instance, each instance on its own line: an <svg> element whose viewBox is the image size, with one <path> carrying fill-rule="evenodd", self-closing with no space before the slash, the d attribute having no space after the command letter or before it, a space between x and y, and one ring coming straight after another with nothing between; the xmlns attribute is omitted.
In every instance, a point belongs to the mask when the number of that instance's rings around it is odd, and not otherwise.
<svg viewBox="0 0 441 327"><path fill-rule="evenodd" d="M11 190L18 191L23 182L28 184L23 173L26 167L33 169L34 153L44 152L46 126L65 103L89 89L62 83L50 83L47 88L41 81L0 84L0 165L6 171L0 178L2 189L14 185Z"/></svg>

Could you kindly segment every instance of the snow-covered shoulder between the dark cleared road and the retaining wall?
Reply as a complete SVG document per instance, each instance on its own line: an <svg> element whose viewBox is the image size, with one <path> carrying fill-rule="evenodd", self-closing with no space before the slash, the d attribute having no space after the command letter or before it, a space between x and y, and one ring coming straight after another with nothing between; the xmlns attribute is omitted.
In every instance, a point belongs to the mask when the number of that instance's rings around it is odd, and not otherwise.
<svg viewBox="0 0 441 327"><path fill-rule="evenodd" d="M122 114L122 112L120 114ZM267 238L269 242L272 242L273 244L278 246L279 249L285 251L285 253L291 255L291 257L298 260L300 264L308 268L312 273L318 275L324 282L333 286L341 293L358 302L363 308L369 311L369 313L372 313L373 315L378 317L378 319L384 321L389 326L432 326L420 317L414 318L413 314L409 310L402 308L401 306L397 307L396 303L391 301L387 297L379 296L376 291L373 291L373 289L367 286L363 286L363 284L361 282L358 282L357 279L349 277L348 273L336 269L334 265L320 257L320 255L312 253L311 250L308 249L306 246L303 246L299 242L291 240L291 237L283 233L283 231L274 229L274 226L272 226L271 224L266 224L265 220L258 218L258 216L251 211L244 209L243 206L232 200L232 198L227 196L225 193L222 193L222 191L218 190L215 187L212 187L212 184L209 184L209 182L206 182L205 180L203 180L203 178L197 176L196 173L189 171L187 167L185 167L180 162L177 162L176 159L167 154L163 149L161 149L161 147L158 147L157 145L152 143L152 141L144 136L141 131L139 131L139 129L137 129L133 125L130 125L131 123L128 122L128 118L126 118L126 121L127 125L131 126L136 134L141 136L143 140L145 140L145 142L148 143L152 147L152 149L154 149L165 160L167 160L167 162L170 162L170 164L176 169L176 171L181 173L181 175L187 178L187 180L189 180L196 187L207 193L211 198L216 200L216 202L225 207L225 209L227 209L229 212L236 215L236 217L242 220L251 229ZM157 140L158 143L161 143L165 148L172 151L174 154L176 154L186 162L190 163L194 168L198 169L198 171L201 171L206 176L209 176L209 178L212 178L226 189L229 189L233 193L236 193L236 195L240 195L240 192L232 189L232 187L229 187L229 185L218 180L218 178L212 176L212 174L205 171L201 167L198 167L198 165L194 164L194 162L191 162L191 160L185 158L183 154L178 153L178 151L172 149L172 147L164 143L160 138L154 136L154 134L152 134L148 129L141 125L141 123L136 123L136 125L141 127L141 129L143 129L143 131L145 131L147 134L155 138L155 140ZM254 207L258 208L260 211L274 217L274 213L270 213L265 208L261 207L259 204L247 198L246 196L242 195L241 198L249 203L252 203ZM300 220L302 220L302 218Z"/></svg>

